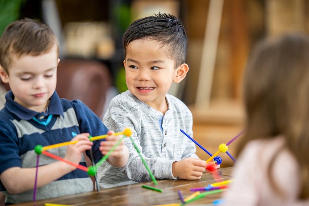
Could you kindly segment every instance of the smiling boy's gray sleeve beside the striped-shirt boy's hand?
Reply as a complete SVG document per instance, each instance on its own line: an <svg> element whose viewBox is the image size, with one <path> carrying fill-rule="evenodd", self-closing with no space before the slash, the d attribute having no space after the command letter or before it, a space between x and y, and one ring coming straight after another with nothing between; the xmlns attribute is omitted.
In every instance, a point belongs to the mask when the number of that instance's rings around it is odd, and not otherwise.
<svg viewBox="0 0 309 206"><path fill-rule="evenodd" d="M161 157L148 158L142 153L143 146L140 144L137 135L141 124L141 121L139 120L140 111L138 105L136 106L136 108L128 108L127 105L119 102L117 104L112 103L103 117L104 124L115 132L121 132L126 127L131 128L131 138L133 139L137 149L140 151L140 153L137 152L130 138L124 139L124 143L129 150L129 159L128 163L121 168L121 171L129 179L136 182L150 181L151 177L140 157L141 155L150 171L153 173L155 179L175 179L172 174L172 163L175 160L169 160Z"/></svg>

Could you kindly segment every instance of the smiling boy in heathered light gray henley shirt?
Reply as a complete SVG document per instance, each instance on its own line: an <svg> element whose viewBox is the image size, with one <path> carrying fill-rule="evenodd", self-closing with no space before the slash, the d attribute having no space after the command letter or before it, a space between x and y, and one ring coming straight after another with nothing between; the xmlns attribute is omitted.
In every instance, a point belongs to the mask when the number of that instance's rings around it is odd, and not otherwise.
<svg viewBox="0 0 309 206"><path fill-rule="evenodd" d="M110 102L103 118L114 131L132 128L132 138L156 179L197 180L207 163L200 160L192 136L192 114L176 97L167 94L173 82L185 78L187 36L184 25L171 14L157 14L133 22L123 35L124 67L128 90ZM98 168L101 187L151 180L130 139L128 163Z"/></svg>

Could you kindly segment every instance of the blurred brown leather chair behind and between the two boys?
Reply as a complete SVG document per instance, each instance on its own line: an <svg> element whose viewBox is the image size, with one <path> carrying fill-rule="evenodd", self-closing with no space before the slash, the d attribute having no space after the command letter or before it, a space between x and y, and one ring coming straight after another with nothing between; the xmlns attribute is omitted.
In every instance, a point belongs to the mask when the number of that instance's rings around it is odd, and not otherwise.
<svg viewBox="0 0 309 206"><path fill-rule="evenodd" d="M8 84L4 87L9 90ZM57 69L56 91L60 98L81 100L100 119L107 89L112 85L112 77L105 64L95 60L60 60ZM108 102L107 102L108 104Z"/></svg>

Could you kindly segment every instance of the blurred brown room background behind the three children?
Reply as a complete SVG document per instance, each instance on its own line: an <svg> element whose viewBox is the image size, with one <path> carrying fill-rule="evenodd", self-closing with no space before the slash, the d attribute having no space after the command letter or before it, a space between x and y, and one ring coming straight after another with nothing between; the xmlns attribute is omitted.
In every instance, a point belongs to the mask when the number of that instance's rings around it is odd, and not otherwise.
<svg viewBox="0 0 309 206"><path fill-rule="evenodd" d="M286 32L308 33L308 11L307 0L0 0L0 34L24 17L48 24L60 42L59 96L81 99L102 118L111 98L127 89L121 40L128 25L158 12L180 17L190 70L169 93L191 109L193 138L215 153L244 130L242 76L252 46ZM8 89L2 84L1 101ZM202 149L197 154L208 159ZM233 164L221 157L223 166Z"/></svg>

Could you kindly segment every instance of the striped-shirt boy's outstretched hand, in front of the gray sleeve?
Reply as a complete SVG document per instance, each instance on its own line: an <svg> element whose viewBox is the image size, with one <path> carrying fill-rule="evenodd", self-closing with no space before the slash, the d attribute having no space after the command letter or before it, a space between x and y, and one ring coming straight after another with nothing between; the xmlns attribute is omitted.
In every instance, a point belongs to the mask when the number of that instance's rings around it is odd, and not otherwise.
<svg viewBox="0 0 309 206"><path fill-rule="evenodd" d="M111 150L113 146L115 146L115 144L117 144L117 142L123 137L123 135L112 135L113 133L113 131L108 131L107 134L110 136L105 138L106 141L100 142L99 149L102 152L102 155L106 155L109 150ZM120 144L118 144L114 151L109 155L107 161L114 167L123 167L127 164L128 159L128 148L123 144L123 141L121 141Z"/></svg>

